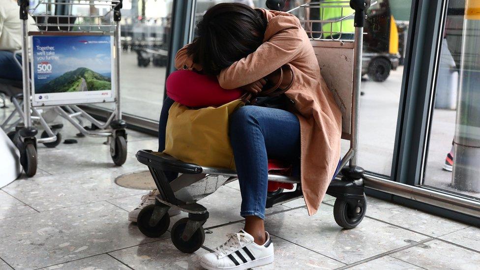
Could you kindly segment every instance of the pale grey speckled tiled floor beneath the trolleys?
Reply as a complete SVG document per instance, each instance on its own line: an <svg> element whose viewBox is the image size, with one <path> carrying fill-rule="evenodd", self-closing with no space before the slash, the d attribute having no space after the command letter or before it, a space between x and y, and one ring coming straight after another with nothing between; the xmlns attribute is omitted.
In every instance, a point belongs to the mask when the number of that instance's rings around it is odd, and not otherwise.
<svg viewBox="0 0 480 270"><path fill-rule="evenodd" d="M65 125L62 133L68 139L76 132ZM240 191L232 182L200 201L210 219L204 247L194 254L178 251L168 233L146 238L127 221L145 191L114 180L145 170L134 154L155 148L156 138L129 131L122 167L113 166L102 139L77 139L56 149L40 145L40 173L0 190L0 270L199 269L200 255L243 226ZM342 230L333 203L327 197L310 217L301 199L268 210L275 262L261 269L479 268L479 228L369 198L360 226Z"/></svg>

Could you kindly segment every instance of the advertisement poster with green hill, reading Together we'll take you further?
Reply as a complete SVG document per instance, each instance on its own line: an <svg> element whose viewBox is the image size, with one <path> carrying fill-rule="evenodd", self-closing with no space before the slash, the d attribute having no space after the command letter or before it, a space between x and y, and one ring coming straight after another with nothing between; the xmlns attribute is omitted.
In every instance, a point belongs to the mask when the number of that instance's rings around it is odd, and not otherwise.
<svg viewBox="0 0 480 270"><path fill-rule="evenodd" d="M114 101L109 35L32 36L34 106Z"/></svg>

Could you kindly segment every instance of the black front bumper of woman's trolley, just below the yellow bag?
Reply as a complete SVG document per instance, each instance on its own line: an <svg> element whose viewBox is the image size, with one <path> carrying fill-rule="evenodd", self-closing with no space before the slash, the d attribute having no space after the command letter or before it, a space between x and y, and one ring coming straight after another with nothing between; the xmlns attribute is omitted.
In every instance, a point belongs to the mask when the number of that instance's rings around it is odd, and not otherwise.
<svg viewBox="0 0 480 270"><path fill-rule="evenodd" d="M154 152L152 150L139 150L136 157L140 163L163 171L178 172L182 174L200 174L203 170L202 167L196 164L186 163L171 155L162 152Z"/></svg>

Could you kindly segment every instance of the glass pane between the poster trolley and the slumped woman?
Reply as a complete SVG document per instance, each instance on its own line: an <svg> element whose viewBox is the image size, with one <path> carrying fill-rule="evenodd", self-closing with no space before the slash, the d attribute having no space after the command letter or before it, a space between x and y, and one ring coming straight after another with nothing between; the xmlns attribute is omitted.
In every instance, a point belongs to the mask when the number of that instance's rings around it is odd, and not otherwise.
<svg viewBox="0 0 480 270"><path fill-rule="evenodd" d="M173 0L123 0L120 101L129 124L158 122L171 42ZM113 104L94 107L101 112ZM101 115L101 113L100 113ZM145 124L144 124L145 125Z"/></svg>

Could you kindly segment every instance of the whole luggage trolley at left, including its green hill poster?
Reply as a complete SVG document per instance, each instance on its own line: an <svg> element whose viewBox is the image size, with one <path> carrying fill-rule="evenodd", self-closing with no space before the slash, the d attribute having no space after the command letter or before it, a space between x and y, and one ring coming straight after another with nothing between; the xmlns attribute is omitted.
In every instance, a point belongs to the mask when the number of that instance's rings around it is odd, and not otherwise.
<svg viewBox="0 0 480 270"><path fill-rule="evenodd" d="M60 143L60 135L55 134L55 129L61 126L49 126L47 121L39 109L53 109L56 114L68 120L75 126L82 134L92 137L107 137L110 145L110 154L114 163L118 166L125 162L127 154L127 135L125 132L126 123L121 119L120 110L120 8L122 0L71 0L71 1L52 1L40 0L33 8L30 9L29 0L18 0L20 6L20 19L22 20L22 68L23 70L23 95L16 95L12 97L12 101L16 107L13 114L19 114L20 120L14 122L15 134L12 136L15 144L20 150L20 161L27 176L33 176L36 173L37 167L37 143L44 143L47 147L55 147ZM72 10L73 8L88 10L87 15L51 15L49 14L50 5L55 4L56 7L63 6L64 10ZM46 10L45 14L35 14L36 27L38 31L28 30L28 16L29 13L36 13L43 6ZM93 14L91 7L95 6L99 9L99 13L103 15ZM80 8L79 8L80 7ZM40 66L33 67L34 62L34 48L33 45L29 48L29 41L33 44L35 37L55 37L61 39L56 44L61 47L62 43L66 42L67 38L84 39L78 40L76 44L86 43L105 43L104 48L107 48L107 58L103 61L108 61L110 64L109 74L99 74L88 68L77 69L76 73L69 73L68 77L73 78L68 81L72 82L72 88L64 91L59 91L61 94L78 94L66 98L61 96L57 100L53 100L54 94L48 94L51 98L47 100L47 94L38 95L35 92L34 74L35 72L50 71L52 66L48 66L48 61L40 62ZM94 39L98 39L94 41ZM40 40L40 39L38 39ZM45 39L42 39L45 40ZM38 41L40 42L40 41ZM72 41L73 42L73 41ZM40 43L39 43L40 44ZM73 43L72 43L73 44ZM68 56L75 55L76 48L73 46L71 51L67 51ZM108 48L109 47L109 48ZM103 48L103 47L102 47ZM96 52L92 51L94 55ZM30 55L29 55L30 54ZM50 53L51 55L52 53ZM49 55L48 53L46 55ZM47 60L49 58L46 58ZM80 59L80 57L78 58ZM108 59L108 60L106 60ZM37 60L38 61L38 60ZM71 61L71 60L70 60ZM66 61L65 61L66 62ZM45 66L42 66L45 64ZM32 77L30 79L31 66ZM50 69L50 70L49 70ZM55 68L54 68L55 69ZM69 72L70 70L56 70L56 72ZM74 72L74 71L71 71ZM64 76L63 73L60 77ZM52 75L53 76L53 75ZM65 75L66 76L66 75ZM57 78L60 78L57 77ZM53 77L55 78L55 77ZM56 80L56 79L55 79ZM53 79L52 79L53 81ZM49 81L50 82L50 81ZM57 81L60 84L61 81ZM30 85L31 83L31 85ZM65 87L66 84L61 85ZM33 88L33 89L32 89ZM74 93L68 93L73 90ZM88 91L87 93L80 93ZM35 94L37 93L37 94ZM18 101L22 99L23 101ZM100 122L91 117L87 112L82 110L78 104L90 104L99 102L114 102L115 109L106 122ZM23 103L23 104L22 104ZM22 109L23 105L23 109ZM12 120L13 114L2 124L2 128L6 128L8 121ZM92 128L85 128L82 126L82 119L86 119L92 123ZM42 138L36 139L37 129L32 124L40 123L44 128ZM10 124L9 128L12 128ZM8 132L8 131L7 131ZM49 145L50 144L50 145Z"/></svg>

